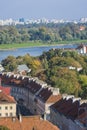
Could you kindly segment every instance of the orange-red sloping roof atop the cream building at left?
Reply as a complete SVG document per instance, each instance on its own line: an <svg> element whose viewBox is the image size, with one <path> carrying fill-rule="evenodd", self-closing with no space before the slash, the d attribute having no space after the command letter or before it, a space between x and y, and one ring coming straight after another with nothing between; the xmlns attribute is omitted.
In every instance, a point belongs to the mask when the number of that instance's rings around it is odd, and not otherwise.
<svg viewBox="0 0 87 130"><path fill-rule="evenodd" d="M0 91L0 104L6 104L6 103L16 103L15 99L10 96L5 94L2 90Z"/></svg>

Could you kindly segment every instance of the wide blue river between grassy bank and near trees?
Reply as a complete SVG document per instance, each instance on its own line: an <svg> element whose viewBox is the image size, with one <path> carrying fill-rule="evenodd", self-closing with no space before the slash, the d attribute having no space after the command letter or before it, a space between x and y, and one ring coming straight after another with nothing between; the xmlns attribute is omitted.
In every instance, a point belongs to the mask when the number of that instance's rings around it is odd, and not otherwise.
<svg viewBox="0 0 87 130"><path fill-rule="evenodd" d="M0 50L0 62L9 55L24 56L25 54L30 54L31 56L39 56L43 52L46 52L52 48L76 48L77 45L57 45L57 46L43 46L43 47L28 47L28 48L18 48L15 50Z"/></svg>

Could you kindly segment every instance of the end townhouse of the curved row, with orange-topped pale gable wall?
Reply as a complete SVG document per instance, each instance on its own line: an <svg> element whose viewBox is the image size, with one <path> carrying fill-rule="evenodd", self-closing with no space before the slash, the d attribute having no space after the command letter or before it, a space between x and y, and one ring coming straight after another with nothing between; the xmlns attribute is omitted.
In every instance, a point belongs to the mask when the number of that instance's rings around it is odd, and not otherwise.
<svg viewBox="0 0 87 130"><path fill-rule="evenodd" d="M45 116L47 120L50 120L50 106L61 98L58 88L43 88L35 97L36 114Z"/></svg>

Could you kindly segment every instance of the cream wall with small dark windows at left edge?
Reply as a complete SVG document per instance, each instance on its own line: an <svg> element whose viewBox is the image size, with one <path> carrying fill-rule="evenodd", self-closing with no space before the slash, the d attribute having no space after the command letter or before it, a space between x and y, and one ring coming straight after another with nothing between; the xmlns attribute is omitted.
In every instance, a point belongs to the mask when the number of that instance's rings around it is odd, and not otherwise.
<svg viewBox="0 0 87 130"><path fill-rule="evenodd" d="M8 109L5 109L5 107L8 107ZM8 113L8 117L10 113L12 113L12 117L16 116L16 103L0 104L0 108L0 117L6 117L6 113Z"/></svg>

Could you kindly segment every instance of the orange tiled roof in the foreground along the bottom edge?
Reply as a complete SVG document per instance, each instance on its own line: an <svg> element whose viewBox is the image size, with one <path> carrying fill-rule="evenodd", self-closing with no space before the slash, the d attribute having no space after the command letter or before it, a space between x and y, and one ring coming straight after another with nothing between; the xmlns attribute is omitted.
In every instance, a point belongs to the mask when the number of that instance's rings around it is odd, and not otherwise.
<svg viewBox="0 0 87 130"><path fill-rule="evenodd" d="M39 116L22 117L21 122L18 118L0 118L0 125L8 127L10 130L59 130L57 126L40 119Z"/></svg>

